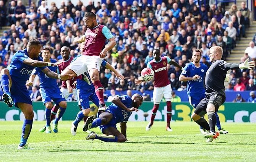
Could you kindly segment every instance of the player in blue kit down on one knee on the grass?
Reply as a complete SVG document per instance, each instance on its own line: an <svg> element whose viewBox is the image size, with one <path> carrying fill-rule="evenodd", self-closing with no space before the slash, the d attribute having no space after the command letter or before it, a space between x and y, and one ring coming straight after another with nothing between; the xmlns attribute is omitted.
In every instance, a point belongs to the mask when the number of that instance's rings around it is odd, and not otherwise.
<svg viewBox="0 0 256 162"><path fill-rule="evenodd" d="M84 131L99 126L103 134L91 132L86 139L99 139L105 142L125 142L127 140L126 123L133 111L139 111L138 108L142 102L143 97L137 93L132 97L127 95L115 97L112 100L112 104L105 112L100 114L99 118L94 120L94 116L90 116L84 124ZM117 130L117 123L120 123L121 133Z"/></svg>

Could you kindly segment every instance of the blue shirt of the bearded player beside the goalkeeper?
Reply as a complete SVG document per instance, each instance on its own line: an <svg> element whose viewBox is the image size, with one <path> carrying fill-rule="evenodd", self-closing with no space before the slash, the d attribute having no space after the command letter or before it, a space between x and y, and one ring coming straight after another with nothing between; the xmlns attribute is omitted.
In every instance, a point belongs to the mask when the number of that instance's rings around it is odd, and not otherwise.
<svg viewBox="0 0 256 162"><path fill-rule="evenodd" d="M199 68L197 68L193 63L190 63L185 66L181 75L184 75L186 77L193 77L194 75L200 76L199 79L194 79L194 80L188 81L188 87L187 87L188 96L201 97L201 94L205 93L204 79L205 79L207 70L208 70L208 67L206 65L204 65L203 63L200 63Z"/></svg>

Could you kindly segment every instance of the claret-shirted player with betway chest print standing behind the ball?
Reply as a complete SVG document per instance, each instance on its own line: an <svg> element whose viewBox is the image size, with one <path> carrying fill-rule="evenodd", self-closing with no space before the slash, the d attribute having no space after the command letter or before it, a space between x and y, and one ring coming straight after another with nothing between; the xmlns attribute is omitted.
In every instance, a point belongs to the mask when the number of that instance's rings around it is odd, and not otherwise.
<svg viewBox="0 0 256 162"><path fill-rule="evenodd" d="M172 131L170 127L170 121L172 119L172 87L168 79L167 63L173 64L183 70L183 68L178 65L177 62L172 61L169 57L160 57L159 49L153 50L154 59L147 63L147 67L153 69L155 76L155 84L153 91L153 101L154 107L151 114L151 122L146 127L146 131L152 128L154 118L156 117L156 112L159 108L159 104L164 96L167 105L167 131ZM140 84L143 79L138 79L135 81L136 84Z"/></svg>

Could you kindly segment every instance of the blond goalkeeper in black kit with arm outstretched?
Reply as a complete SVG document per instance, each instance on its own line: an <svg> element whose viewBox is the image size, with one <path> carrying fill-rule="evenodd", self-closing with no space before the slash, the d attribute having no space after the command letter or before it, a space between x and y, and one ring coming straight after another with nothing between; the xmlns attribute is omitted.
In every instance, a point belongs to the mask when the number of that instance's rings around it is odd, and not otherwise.
<svg viewBox="0 0 256 162"><path fill-rule="evenodd" d="M191 115L191 118L202 126L205 130L210 130L204 137L207 138L207 142L213 141L219 136L219 132L215 132L216 115L219 106L225 102L225 86L224 81L228 70L236 69L252 69L255 66L254 61L248 62L249 58L241 64L227 63L221 60L223 50L219 46L211 47L210 49L210 61L212 65L206 72L205 85L206 85L206 96L196 106L196 110ZM208 122L203 118L207 113Z"/></svg>

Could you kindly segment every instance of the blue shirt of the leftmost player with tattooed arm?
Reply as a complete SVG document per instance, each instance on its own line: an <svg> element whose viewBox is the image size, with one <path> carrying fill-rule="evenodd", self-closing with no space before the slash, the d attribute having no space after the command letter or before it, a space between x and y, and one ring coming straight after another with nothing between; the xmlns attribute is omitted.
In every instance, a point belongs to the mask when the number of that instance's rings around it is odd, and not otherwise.
<svg viewBox="0 0 256 162"><path fill-rule="evenodd" d="M27 58L29 58L27 49L19 50L13 55L10 66L8 68L8 70L10 71L11 79L15 80L16 83L20 85L26 84L26 81L29 79L29 75L35 68L34 66L23 63L23 61ZM37 57L33 60L43 61L41 57ZM46 68L46 66L39 69L43 70L44 68Z"/></svg>

